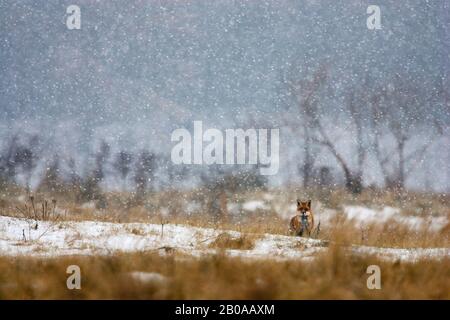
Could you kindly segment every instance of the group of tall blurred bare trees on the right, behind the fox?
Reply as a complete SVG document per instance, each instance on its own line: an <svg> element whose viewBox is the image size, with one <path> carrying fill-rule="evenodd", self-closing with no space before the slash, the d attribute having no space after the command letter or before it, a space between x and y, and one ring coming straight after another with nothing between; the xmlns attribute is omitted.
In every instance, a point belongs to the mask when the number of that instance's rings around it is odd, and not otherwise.
<svg viewBox="0 0 450 320"><path fill-rule="evenodd" d="M430 108L433 103L448 104L448 91L442 85L435 92L437 99L427 100L420 86L395 75L382 86L371 86L366 80L352 87L343 103L336 99L338 105L330 108L324 102L324 97L330 96L329 73L329 67L322 65L309 76L291 71L282 79L287 115L283 121L301 138L303 159L299 161L299 171L303 185L311 185L316 155L326 150L342 170L349 191L362 191L369 154L378 163L384 185L403 189L433 141L443 134L442 124ZM350 155L348 150L344 154L339 148L339 131L347 133L347 139L351 136ZM425 142L419 142L418 133L424 132L429 136Z"/></svg>

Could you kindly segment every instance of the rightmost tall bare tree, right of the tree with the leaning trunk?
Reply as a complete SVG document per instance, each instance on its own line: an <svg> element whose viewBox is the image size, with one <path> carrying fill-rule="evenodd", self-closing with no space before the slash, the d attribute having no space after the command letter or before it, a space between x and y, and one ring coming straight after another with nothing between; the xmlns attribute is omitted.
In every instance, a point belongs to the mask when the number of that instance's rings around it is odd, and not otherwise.
<svg viewBox="0 0 450 320"><path fill-rule="evenodd" d="M424 159L430 141L418 144L414 137L424 127L440 134L428 112L425 94L420 88L395 76L390 85L379 88L371 99L372 149L386 187L403 189L417 163ZM437 130L436 130L437 129ZM428 130L431 131L431 130ZM392 139L393 147L382 142Z"/></svg>

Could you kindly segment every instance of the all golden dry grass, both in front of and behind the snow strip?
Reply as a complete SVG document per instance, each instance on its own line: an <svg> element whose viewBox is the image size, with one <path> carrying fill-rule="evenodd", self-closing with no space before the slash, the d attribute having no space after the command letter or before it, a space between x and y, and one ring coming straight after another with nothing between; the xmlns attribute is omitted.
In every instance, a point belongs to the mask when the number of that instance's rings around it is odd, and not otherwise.
<svg viewBox="0 0 450 320"><path fill-rule="evenodd" d="M273 190L282 201L294 201L296 192ZM20 216L23 206L17 194L3 194L0 214ZM36 199L51 195L36 195ZM107 195L108 208L83 208L68 197L58 195L64 220L112 222L177 223L199 227L236 230L243 236L230 240L218 237L211 244L217 253L192 257L180 253L164 256L152 252L114 253L108 256L0 257L0 299L450 299L450 257L415 262L387 261L375 256L345 253L343 246L358 244L387 248L450 247L450 227L440 231L410 230L388 222L368 224L363 229L346 219L322 225L319 239L329 241L329 250L312 260L244 259L224 254L226 249L246 250L254 237L263 233L287 234L287 221L270 208L253 212L239 220L213 218L205 212L186 216L180 199L193 193L167 192L149 195L145 204L133 204L127 194ZM240 194L233 200L255 198L258 193ZM358 197L337 190L325 200L309 194L327 207L339 210L341 203L391 205L405 215L447 215L448 195L365 191ZM37 200L37 201L38 201ZM313 200L314 201L314 200ZM317 200L319 201L319 200ZM170 204L171 214L158 212L162 203ZM138 231L136 231L138 232ZM82 235L81 235L82 236ZM301 248L299 248L301 250ZM81 268L81 290L68 290L68 265ZM382 288L369 290L366 269L381 269ZM160 278L142 280L133 273L156 273ZM162 277L161 277L162 276Z"/></svg>

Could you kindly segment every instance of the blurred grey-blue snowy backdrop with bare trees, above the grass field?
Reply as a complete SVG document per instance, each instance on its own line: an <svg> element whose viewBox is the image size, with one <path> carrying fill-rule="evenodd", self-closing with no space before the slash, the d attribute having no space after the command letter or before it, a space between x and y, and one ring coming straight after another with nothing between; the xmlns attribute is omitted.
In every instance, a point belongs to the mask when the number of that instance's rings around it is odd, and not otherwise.
<svg viewBox="0 0 450 320"><path fill-rule="evenodd" d="M370 4L1 0L1 185L448 192L450 4ZM278 174L173 165L194 120L279 128Z"/></svg>

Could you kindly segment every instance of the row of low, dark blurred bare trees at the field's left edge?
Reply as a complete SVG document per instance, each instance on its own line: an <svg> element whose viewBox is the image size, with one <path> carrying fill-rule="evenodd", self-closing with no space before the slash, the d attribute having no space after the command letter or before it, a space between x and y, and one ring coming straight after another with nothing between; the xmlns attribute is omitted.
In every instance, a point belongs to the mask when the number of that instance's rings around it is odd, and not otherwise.
<svg viewBox="0 0 450 320"><path fill-rule="evenodd" d="M93 155L93 164L82 175L74 158L63 159L58 154L49 156L42 151L45 148L39 136L24 136L20 138L18 134L13 135L0 150L0 186L15 183L17 175L22 174L25 176L26 188L30 191L31 178L39 162L44 162L44 169L41 170L43 173L38 188L53 192L71 187L78 189L80 197L85 200L101 193L101 183L107 174L119 177L123 189L126 189L127 180L131 180L136 197L142 197L154 186L157 162L161 161L161 156L148 150L137 154L120 150L112 154L110 145L102 142ZM64 170L62 162L65 162Z"/></svg>

